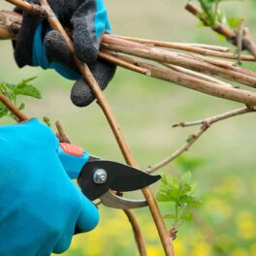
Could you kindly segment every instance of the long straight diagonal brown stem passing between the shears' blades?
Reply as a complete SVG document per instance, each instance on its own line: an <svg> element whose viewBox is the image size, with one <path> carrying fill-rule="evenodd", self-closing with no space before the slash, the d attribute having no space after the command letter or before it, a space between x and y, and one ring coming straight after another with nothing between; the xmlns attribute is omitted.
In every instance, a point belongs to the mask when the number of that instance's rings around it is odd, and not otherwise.
<svg viewBox="0 0 256 256"><path fill-rule="evenodd" d="M8 2L13 3L13 4L15 4L16 2L21 2L19 4L20 5L22 4L21 0L12 0L12 1L8 0ZM50 26L62 34L68 48L70 49L71 53L74 54L73 43L70 40L67 33L65 32L62 25L60 24L59 20L56 18L56 16L54 15L52 10L48 6L48 1L41 0L41 4L42 4L43 9L45 9L48 14L48 22L49 22ZM22 8L22 7L20 7L20 8ZM24 7L24 6L23 6L23 9L25 9L28 12L30 11L30 8L26 9L26 7ZM74 59L80 69L80 73L81 73L82 77L90 86L91 90L93 91L95 97L98 100L100 107L102 108L103 112L105 113L105 115L112 127L112 132L115 136L117 144L119 145L127 164L129 164L133 167L138 167L135 159L133 158L133 155L131 153L131 150L130 150L128 144L124 140L124 137L123 137L123 135L120 131L120 128L116 122L116 119L112 113L109 103L108 103L107 99L105 98L105 95L103 94L102 90L100 89L97 81L92 76L92 74L86 64L82 63L80 61L80 59L75 55L74 55ZM144 193L144 197L147 201L148 208L150 209L151 214L153 216L153 219L154 219L155 225L157 227L157 230L158 230L160 239L162 241L164 250L166 252L166 255L173 256L173 255L175 255L174 247L173 247L172 241L169 239L169 232L168 232L167 227L164 223L164 220L161 216L160 210L157 206L157 203L153 196L153 193L149 187L144 188L143 193Z"/></svg>

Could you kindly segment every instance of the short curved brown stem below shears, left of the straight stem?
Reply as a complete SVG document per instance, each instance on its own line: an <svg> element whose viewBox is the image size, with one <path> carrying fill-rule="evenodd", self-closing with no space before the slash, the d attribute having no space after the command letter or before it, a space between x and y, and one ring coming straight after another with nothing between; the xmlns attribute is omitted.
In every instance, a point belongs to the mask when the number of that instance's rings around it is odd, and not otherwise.
<svg viewBox="0 0 256 256"><path fill-rule="evenodd" d="M130 209L124 209L123 211L126 214L128 220L130 221L131 226L133 228L134 237L135 237L140 255L146 256L147 253L146 253L146 248L145 248L145 244L144 244L144 238L142 235L140 225L139 225L135 215L133 214L133 212Z"/></svg>

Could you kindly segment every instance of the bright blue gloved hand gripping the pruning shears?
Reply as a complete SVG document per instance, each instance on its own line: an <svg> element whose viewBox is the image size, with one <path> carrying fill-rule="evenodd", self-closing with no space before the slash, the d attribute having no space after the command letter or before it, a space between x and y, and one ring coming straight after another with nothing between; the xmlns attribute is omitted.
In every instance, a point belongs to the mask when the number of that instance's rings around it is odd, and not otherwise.
<svg viewBox="0 0 256 256"><path fill-rule="evenodd" d="M1 256L61 253L76 226L97 225L98 210L65 173L48 126L38 119L2 126L0 145Z"/></svg>

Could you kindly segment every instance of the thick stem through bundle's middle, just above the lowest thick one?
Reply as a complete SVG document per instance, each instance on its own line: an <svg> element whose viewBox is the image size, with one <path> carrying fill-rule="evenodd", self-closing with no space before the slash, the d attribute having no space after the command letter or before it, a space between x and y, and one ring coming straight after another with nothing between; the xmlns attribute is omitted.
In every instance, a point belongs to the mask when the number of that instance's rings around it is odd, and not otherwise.
<svg viewBox="0 0 256 256"><path fill-rule="evenodd" d="M162 48L152 48L143 46L138 43L128 42L122 39L114 39L105 36L103 39L103 48L122 52L125 54L154 60L157 62L170 63L176 66L181 66L203 74L217 76L227 80L234 80L240 83L256 87L256 75L253 72L246 71L230 66L217 66L210 64L204 59L199 59L198 56L183 54L179 52L169 51Z"/></svg>

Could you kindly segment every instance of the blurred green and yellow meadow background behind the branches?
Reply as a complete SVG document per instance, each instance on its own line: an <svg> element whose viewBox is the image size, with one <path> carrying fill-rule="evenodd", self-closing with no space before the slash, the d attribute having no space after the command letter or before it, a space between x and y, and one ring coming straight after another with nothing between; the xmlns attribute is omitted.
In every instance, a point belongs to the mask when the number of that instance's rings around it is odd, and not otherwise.
<svg viewBox="0 0 256 256"><path fill-rule="evenodd" d="M199 28L194 16L186 13L186 1L106 0L116 34L170 42L207 43L228 46L208 28ZM0 4L1 9L12 9ZM244 16L256 36L254 0L227 1L227 14ZM75 108L70 100L72 81L52 71L16 67L10 42L0 42L0 80L16 82L37 76L33 84L43 100L26 100L29 116L47 115L60 120L74 144L90 153L123 162L110 127L97 104ZM244 65L245 66L245 65ZM255 64L249 67L256 71ZM136 160L144 170L169 156L197 129L173 129L179 121L201 119L240 108L240 104L217 99L176 84L145 78L118 69L106 95ZM1 124L10 120L3 119ZM225 120L212 126L184 157L162 172L180 176L192 171L203 199L196 221L180 228L175 241L176 255L256 255L256 122L255 114ZM156 187L154 187L155 189ZM126 195L127 197L142 197ZM163 213L172 206L161 204ZM70 255L138 255L131 227L120 210L100 207L99 227L77 236ZM148 255L164 255L152 218L147 209L135 210ZM168 222L169 227L171 224Z"/></svg>

